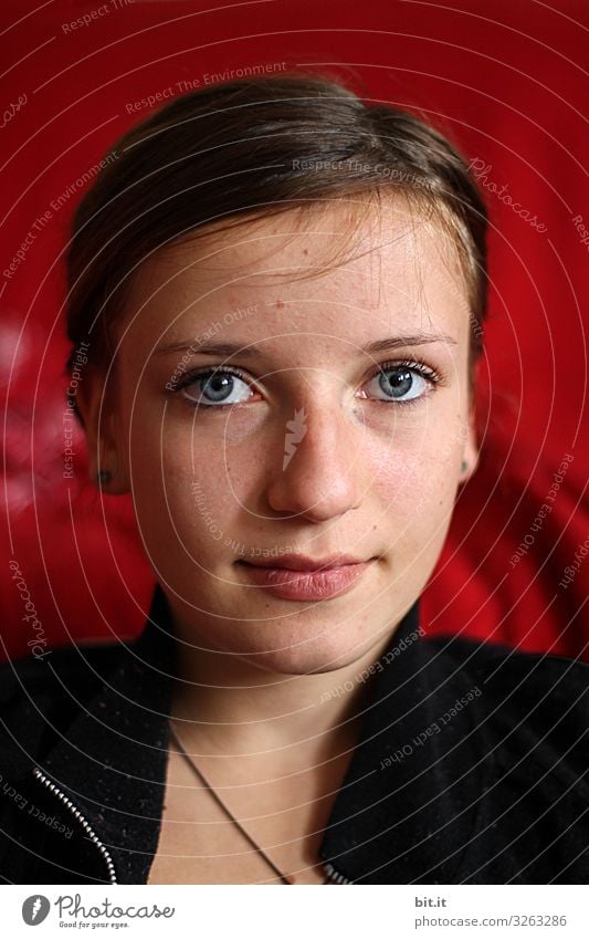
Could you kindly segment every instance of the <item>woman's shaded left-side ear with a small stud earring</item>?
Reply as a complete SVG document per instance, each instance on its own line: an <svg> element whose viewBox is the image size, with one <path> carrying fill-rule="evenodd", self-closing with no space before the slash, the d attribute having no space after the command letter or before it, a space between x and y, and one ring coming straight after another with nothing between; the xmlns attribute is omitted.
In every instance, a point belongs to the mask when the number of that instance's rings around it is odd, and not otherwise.
<svg viewBox="0 0 589 939"><path fill-rule="evenodd" d="M111 379L111 385L113 385ZM105 376L87 368L76 389L76 407L84 424L88 445L91 481L109 495L129 492L128 471L124 461L124 444L117 432L114 390L106 390ZM101 481L98 473L103 473ZM107 476L104 476L104 474Z"/></svg>

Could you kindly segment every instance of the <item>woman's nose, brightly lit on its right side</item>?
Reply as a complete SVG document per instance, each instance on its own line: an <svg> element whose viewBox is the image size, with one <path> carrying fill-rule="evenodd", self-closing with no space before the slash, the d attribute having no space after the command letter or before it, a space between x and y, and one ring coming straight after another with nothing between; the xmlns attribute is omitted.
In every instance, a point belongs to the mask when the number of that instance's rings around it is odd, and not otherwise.
<svg viewBox="0 0 589 939"><path fill-rule="evenodd" d="M291 414L271 459L270 507L314 522L358 508L364 491L361 429L341 409L326 410L316 401Z"/></svg>

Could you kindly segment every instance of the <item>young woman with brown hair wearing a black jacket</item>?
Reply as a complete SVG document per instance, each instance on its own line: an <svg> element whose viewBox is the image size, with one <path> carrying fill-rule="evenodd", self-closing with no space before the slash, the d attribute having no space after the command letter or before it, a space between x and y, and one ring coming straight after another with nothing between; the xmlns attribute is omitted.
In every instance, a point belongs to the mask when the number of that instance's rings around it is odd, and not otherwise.
<svg viewBox="0 0 589 939"><path fill-rule="evenodd" d="M589 667L419 617L477 461L463 160L303 73L179 97L111 156L71 404L158 585L135 643L3 667L2 877L586 883Z"/></svg>

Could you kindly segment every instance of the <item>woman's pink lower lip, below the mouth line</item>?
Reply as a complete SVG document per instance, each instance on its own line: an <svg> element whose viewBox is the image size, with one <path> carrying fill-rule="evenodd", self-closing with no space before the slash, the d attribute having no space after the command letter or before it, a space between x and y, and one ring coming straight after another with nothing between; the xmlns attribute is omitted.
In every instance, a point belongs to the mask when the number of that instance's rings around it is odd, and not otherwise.
<svg viewBox="0 0 589 939"><path fill-rule="evenodd" d="M298 557L297 560L302 560ZM376 559L330 567L293 568L271 567L266 563L248 563L240 566L248 580L272 596L292 601L320 601L341 596L358 583ZM284 561L281 557L281 561Z"/></svg>

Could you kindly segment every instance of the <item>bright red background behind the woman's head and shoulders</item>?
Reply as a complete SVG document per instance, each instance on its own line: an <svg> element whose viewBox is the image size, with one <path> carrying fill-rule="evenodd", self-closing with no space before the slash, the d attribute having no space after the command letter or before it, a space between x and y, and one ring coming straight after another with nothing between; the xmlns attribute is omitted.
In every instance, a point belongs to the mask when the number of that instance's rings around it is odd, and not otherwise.
<svg viewBox="0 0 589 939"><path fill-rule="evenodd" d="M38 4L34 4L38 6ZM349 76L360 94L417 109L490 165L538 231L487 186L493 282L481 388L483 455L462 490L422 599L430 633L464 632L589 660L587 595L588 7L534 0L4 2L2 271L35 219L128 126L127 104L181 80L272 62ZM63 23L108 6L87 27ZM209 6L210 12L206 11ZM551 8L554 6L554 9ZM585 146L583 146L585 144ZM480 165L480 164L478 164ZM22 572L49 645L133 636L154 585L130 501L87 483L84 442L63 479L65 342L61 253L82 190L51 210L25 260L0 277L7 563L2 648L36 635L8 561ZM574 457L538 526L554 474ZM532 536L532 542L530 542ZM527 538L525 555L512 555ZM576 560L577 555L577 560ZM566 587L567 566L578 567Z"/></svg>

